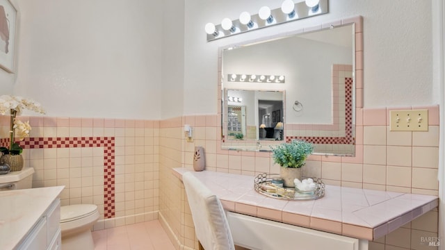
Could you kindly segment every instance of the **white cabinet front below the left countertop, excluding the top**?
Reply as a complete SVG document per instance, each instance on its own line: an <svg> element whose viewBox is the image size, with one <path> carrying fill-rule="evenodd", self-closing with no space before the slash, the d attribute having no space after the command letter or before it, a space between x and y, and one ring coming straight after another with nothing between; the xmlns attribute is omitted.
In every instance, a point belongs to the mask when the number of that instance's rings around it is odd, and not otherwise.
<svg viewBox="0 0 445 250"><path fill-rule="evenodd" d="M16 249L61 249L60 199L55 199L49 208L24 237Z"/></svg>

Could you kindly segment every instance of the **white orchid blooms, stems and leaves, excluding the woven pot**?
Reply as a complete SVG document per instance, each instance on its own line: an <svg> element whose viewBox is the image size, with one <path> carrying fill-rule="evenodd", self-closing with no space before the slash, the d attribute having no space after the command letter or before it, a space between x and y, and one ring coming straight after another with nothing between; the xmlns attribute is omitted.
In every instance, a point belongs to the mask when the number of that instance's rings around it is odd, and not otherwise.
<svg viewBox="0 0 445 250"><path fill-rule="evenodd" d="M14 142L14 135L15 131L17 130L19 140L24 140L26 136L29 136L29 132L31 131L29 121L22 122L16 118L16 116L20 115L24 109L44 114L44 110L40 106L40 103L36 101L10 95L0 96L0 114L10 114L10 144L8 148L1 147L1 153L12 155L22 153L22 147L20 147L18 143Z"/></svg>

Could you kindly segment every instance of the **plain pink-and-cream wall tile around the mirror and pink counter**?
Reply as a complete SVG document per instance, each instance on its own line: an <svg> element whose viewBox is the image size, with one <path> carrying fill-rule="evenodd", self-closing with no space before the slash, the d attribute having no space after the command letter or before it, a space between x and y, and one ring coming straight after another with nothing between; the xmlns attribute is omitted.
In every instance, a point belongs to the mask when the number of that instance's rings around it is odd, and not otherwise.
<svg viewBox="0 0 445 250"><path fill-rule="evenodd" d="M389 131L389 109L357 108L355 157L310 156L306 175L325 183L354 188L438 195L439 108L428 109L428 132ZM190 124L194 142L186 142L182 126ZM171 239L184 249L197 249L191 213L184 185L171 174L173 167L193 169L193 151L203 146L207 170L254 176L279 173L270 153L221 150L218 116L191 116L160 124L160 219ZM437 249L423 240L437 237L437 209L405 224L398 230L370 242L370 249Z"/></svg>

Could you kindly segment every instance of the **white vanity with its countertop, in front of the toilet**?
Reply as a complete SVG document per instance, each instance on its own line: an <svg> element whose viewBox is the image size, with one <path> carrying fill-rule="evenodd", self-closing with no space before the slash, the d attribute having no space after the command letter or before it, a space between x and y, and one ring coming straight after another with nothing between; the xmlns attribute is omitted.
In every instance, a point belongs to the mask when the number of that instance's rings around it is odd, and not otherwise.
<svg viewBox="0 0 445 250"><path fill-rule="evenodd" d="M61 248L60 199L64 186L0 192L0 249Z"/></svg>

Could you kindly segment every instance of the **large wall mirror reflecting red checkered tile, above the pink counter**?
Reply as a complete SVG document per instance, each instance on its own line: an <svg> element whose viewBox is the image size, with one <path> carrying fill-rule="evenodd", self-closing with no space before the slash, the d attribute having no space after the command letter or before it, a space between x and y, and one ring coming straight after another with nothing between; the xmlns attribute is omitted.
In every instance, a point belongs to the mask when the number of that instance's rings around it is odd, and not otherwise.
<svg viewBox="0 0 445 250"><path fill-rule="evenodd" d="M355 155L354 22L236 44L220 53L223 149L270 151L271 145L302 139L314 143L314 153ZM257 97L265 93L282 97ZM268 105L273 108L261 111ZM238 119L234 106L237 112L243 106L245 117ZM242 132L229 130L238 125Z"/></svg>

